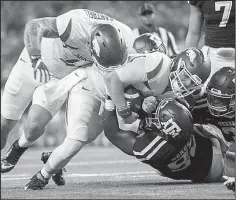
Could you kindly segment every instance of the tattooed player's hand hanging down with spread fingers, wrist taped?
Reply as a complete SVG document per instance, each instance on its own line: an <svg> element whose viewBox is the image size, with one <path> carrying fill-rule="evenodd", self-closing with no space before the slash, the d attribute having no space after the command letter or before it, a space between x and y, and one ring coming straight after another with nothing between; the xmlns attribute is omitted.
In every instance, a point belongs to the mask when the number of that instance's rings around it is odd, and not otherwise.
<svg viewBox="0 0 236 200"><path fill-rule="evenodd" d="M31 59L31 62L34 69L34 79L41 83L47 83L51 79L51 74L41 58Z"/></svg>

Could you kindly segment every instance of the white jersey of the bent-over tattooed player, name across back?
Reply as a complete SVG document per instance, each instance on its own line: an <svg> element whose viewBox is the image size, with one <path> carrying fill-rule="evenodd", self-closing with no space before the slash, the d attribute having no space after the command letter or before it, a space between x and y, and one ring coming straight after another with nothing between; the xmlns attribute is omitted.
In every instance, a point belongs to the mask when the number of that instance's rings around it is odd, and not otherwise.
<svg viewBox="0 0 236 200"><path fill-rule="evenodd" d="M59 15L56 18L56 24L60 38L54 42L53 57L64 65L51 65L48 68L59 78L78 67L93 62L90 40L94 25L111 24L119 28L125 37L129 51L133 49L132 30L127 25L104 14L86 9L70 10Z"/></svg>

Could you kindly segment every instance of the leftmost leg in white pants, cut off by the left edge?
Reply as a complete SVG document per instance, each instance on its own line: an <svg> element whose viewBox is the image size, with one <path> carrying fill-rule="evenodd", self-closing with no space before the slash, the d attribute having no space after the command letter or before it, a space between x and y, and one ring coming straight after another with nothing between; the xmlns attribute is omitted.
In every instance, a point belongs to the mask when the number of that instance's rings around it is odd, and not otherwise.
<svg viewBox="0 0 236 200"><path fill-rule="evenodd" d="M31 61L27 50L24 49L10 73L1 99L1 150L39 85L41 83L33 78Z"/></svg>

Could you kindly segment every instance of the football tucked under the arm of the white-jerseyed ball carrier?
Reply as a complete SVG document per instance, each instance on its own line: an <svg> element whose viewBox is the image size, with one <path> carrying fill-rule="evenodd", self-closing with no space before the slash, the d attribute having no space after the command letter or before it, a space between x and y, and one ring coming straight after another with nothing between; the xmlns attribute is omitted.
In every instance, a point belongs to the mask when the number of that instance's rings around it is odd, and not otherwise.
<svg viewBox="0 0 236 200"><path fill-rule="evenodd" d="M142 98L139 91L132 85L125 87L125 99L132 112L139 113L142 109Z"/></svg>

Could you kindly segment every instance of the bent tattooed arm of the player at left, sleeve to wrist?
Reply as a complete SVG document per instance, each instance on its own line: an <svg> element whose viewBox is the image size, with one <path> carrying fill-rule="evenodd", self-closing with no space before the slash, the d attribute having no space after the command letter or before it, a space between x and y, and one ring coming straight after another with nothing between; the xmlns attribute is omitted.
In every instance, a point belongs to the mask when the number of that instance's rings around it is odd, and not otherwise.
<svg viewBox="0 0 236 200"><path fill-rule="evenodd" d="M42 38L57 38L56 17L45 17L29 21L25 26L24 44L31 56L41 56Z"/></svg>

